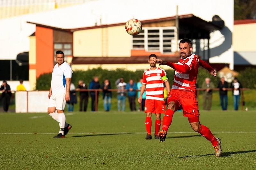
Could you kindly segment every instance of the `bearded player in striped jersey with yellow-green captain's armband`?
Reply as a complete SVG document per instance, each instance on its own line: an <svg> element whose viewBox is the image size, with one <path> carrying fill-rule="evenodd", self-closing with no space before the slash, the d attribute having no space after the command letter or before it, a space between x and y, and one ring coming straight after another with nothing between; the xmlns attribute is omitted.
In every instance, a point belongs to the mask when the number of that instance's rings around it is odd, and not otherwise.
<svg viewBox="0 0 256 170"><path fill-rule="evenodd" d="M143 73L142 87L140 90L139 103L142 101L142 94L146 89L146 101L145 101L145 113L146 113L146 130L148 132L146 139L152 139L151 136L151 116L155 113L155 139L159 139L158 132L161 127L161 113L165 112L164 104L164 83L170 92L170 84L166 72L164 69L156 67L154 59L156 54L150 54L148 57L148 63L150 68Z"/></svg>

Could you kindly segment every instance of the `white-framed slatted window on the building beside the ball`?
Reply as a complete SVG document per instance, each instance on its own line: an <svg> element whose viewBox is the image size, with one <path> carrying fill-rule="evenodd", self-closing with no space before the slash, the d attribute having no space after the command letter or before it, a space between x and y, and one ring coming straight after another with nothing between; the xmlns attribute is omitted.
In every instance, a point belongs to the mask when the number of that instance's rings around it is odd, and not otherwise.
<svg viewBox="0 0 256 170"><path fill-rule="evenodd" d="M173 53L177 51L176 27L146 27L132 38L132 49Z"/></svg>

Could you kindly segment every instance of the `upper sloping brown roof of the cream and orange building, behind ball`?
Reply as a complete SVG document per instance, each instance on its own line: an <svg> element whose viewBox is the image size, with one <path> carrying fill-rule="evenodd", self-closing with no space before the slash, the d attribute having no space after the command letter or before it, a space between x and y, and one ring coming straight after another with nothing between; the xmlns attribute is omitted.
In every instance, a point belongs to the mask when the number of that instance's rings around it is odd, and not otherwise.
<svg viewBox="0 0 256 170"><path fill-rule="evenodd" d="M164 18L155 18L155 19L147 19L147 20L141 20L141 23L142 23L142 25L143 24L150 24L150 23L157 23L157 22L162 22L162 21L175 20L175 18L176 18L176 16L164 17ZM211 22L208 22L208 21L205 21L205 20L203 20L199 17L196 17L193 14L180 15L179 16L179 22L181 24L184 24L184 25L185 24L189 25L190 27L191 27L191 25L193 25L194 27L200 27L200 29L208 31L208 32L213 31L213 30L221 29L218 25L214 25ZM36 22L27 21L27 23L35 24L37 26L41 26L41 27L45 27L45 28L51 28L51 29L55 29L55 30L68 31L68 32L125 25L125 22L122 22L122 23L96 25L96 26L88 26L88 27L73 28L73 29L63 29L63 28L60 28L60 27L54 27L54 26L50 26L50 25L39 24L39 23L36 23Z"/></svg>

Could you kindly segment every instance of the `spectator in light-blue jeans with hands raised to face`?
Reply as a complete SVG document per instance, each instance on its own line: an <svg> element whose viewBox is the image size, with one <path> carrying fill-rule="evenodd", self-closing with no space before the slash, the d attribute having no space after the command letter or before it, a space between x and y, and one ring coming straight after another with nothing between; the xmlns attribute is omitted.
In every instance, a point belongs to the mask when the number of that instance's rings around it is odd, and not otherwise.
<svg viewBox="0 0 256 170"><path fill-rule="evenodd" d="M125 95L126 95L126 91L125 91L125 86L127 85L125 82L124 82L124 78L121 77L120 79L117 79L116 82L116 87L117 87L117 108L118 108L118 111L121 110L121 102L123 104L122 106L122 110L124 111L125 110Z"/></svg>

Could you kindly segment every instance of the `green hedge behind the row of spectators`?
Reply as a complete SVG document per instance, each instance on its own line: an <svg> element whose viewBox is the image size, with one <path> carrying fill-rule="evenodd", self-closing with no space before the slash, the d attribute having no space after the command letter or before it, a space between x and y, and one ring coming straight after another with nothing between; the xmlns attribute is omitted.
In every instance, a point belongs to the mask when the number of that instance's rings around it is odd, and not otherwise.
<svg viewBox="0 0 256 170"><path fill-rule="evenodd" d="M173 75L174 70L168 69L165 70L168 77L170 85L173 83ZM77 86L79 80L83 80L87 85L89 82L92 81L93 76L98 76L100 79L100 84L105 80L109 79L111 82L111 87L116 89L115 81L120 78L121 76L124 77L124 81L128 82L130 79L133 79L135 82L138 82L140 77L142 77L144 70L137 70L137 71L127 71L124 69L117 69L117 70L107 70L99 68L90 69L87 71L76 70L73 72L72 75L72 82ZM38 77L36 81L36 89L37 90L48 90L51 86L51 73L42 74ZM218 82L220 81L219 77L211 76L207 70L202 67L199 67L198 76L197 76L197 84L198 87L202 87L202 83L204 79L209 77L215 87L217 87ZM244 88L256 88L256 69L255 68L246 68L244 71L241 71L238 76L239 81L243 84Z"/></svg>

